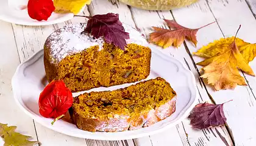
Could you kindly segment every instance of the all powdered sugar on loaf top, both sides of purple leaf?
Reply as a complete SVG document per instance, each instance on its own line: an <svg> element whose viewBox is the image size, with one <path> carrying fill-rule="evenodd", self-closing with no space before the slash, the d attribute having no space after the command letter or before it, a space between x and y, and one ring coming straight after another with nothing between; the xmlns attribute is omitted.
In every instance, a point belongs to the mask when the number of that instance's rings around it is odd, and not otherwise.
<svg viewBox="0 0 256 146"><path fill-rule="evenodd" d="M52 58L52 63L59 63L66 56L77 54L91 46L98 45L99 50L102 49L103 38L96 39L88 33L81 33L86 25L87 23L71 24L56 30L47 38L45 45L50 49L49 55ZM140 32L126 24L123 24L123 26L130 35L130 39L126 40L127 44L135 43L142 46L148 44Z"/></svg>

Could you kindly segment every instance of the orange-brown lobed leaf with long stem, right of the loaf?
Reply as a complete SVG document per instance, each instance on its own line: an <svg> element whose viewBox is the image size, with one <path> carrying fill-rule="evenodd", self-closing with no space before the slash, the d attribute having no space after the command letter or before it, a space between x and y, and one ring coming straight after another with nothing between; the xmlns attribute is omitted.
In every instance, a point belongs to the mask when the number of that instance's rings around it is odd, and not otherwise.
<svg viewBox="0 0 256 146"><path fill-rule="evenodd" d="M168 26L170 28L173 28L174 30L162 29L160 27L153 27L155 32L152 32L149 34L149 41L163 48L169 47L171 45L175 47L179 47L183 43L185 38L192 41L196 46L197 44L196 33L199 29L201 29L202 27L205 27L205 26L202 26L198 29L188 29L186 27L180 26L174 20L168 20L168 19L164 19L164 20L168 24ZM206 26L210 24L207 24Z"/></svg>

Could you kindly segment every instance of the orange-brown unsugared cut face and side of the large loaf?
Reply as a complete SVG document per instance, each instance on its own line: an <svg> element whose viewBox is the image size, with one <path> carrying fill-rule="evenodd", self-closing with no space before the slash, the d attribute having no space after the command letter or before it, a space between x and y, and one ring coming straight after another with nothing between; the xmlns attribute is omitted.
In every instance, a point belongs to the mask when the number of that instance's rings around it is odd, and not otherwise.
<svg viewBox="0 0 256 146"><path fill-rule="evenodd" d="M77 92L143 80L149 75L150 61L149 47L127 44L124 51L104 43L102 50L99 46L92 46L68 55L57 65L50 63L45 56L44 66L49 82L64 80L72 92Z"/></svg>

